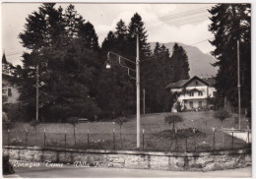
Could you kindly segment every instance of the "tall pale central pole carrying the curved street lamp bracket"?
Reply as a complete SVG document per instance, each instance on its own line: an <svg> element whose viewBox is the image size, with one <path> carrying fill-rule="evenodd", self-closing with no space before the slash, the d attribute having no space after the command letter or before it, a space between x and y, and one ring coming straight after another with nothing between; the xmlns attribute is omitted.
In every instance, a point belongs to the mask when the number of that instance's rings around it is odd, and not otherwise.
<svg viewBox="0 0 256 179"><path fill-rule="evenodd" d="M137 149L141 147L141 109L140 109L140 54L139 54L139 32L136 32L137 38L137 58L136 58L136 89L137 89Z"/></svg>

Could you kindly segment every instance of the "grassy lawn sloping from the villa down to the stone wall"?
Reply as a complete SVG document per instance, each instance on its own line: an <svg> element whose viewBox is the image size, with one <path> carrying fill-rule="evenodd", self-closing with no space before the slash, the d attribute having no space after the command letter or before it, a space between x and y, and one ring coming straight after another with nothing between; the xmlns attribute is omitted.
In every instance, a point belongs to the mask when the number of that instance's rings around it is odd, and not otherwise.
<svg viewBox="0 0 256 179"><path fill-rule="evenodd" d="M141 129L145 130L144 140L141 141L145 150L163 150L163 151L184 151L189 150L211 150L214 146L213 127L217 129L215 133L215 149L231 149L232 138L224 134L224 148L222 147L221 122L213 117L213 112L183 112L179 113L184 119L183 122L177 123L176 128L180 129L177 134L188 128L197 128L199 133L185 138L169 138L168 133L160 135L166 130L172 129L172 126L164 123L166 113L147 114L141 117ZM238 128L234 122L234 115L224 121L224 128ZM242 129L247 128L245 118L241 120ZM43 123L37 126L35 135L34 128L27 123L15 123L14 128L9 133L9 144L21 145L13 142L14 139L20 138L22 145L27 146L44 146L44 129L45 145L48 147L66 147L79 149L136 149L136 118L128 118L127 122L122 125L121 137L120 127L113 122L90 122L79 123L76 125L76 146L73 134L73 126L61 123ZM115 131L113 135L113 129ZM89 131L89 135L88 135ZM186 133L186 131L185 131ZM199 135L200 134L200 135ZM36 145L37 136L37 145ZM142 136L142 135L141 135ZM195 136L195 137L194 137ZM122 140L121 140L122 139ZM4 145L8 144L8 135L4 131ZM144 144L144 145L143 145ZM187 147L186 147L187 146ZM233 148L242 149L245 143L238 139L233 139Z"/></svg>

